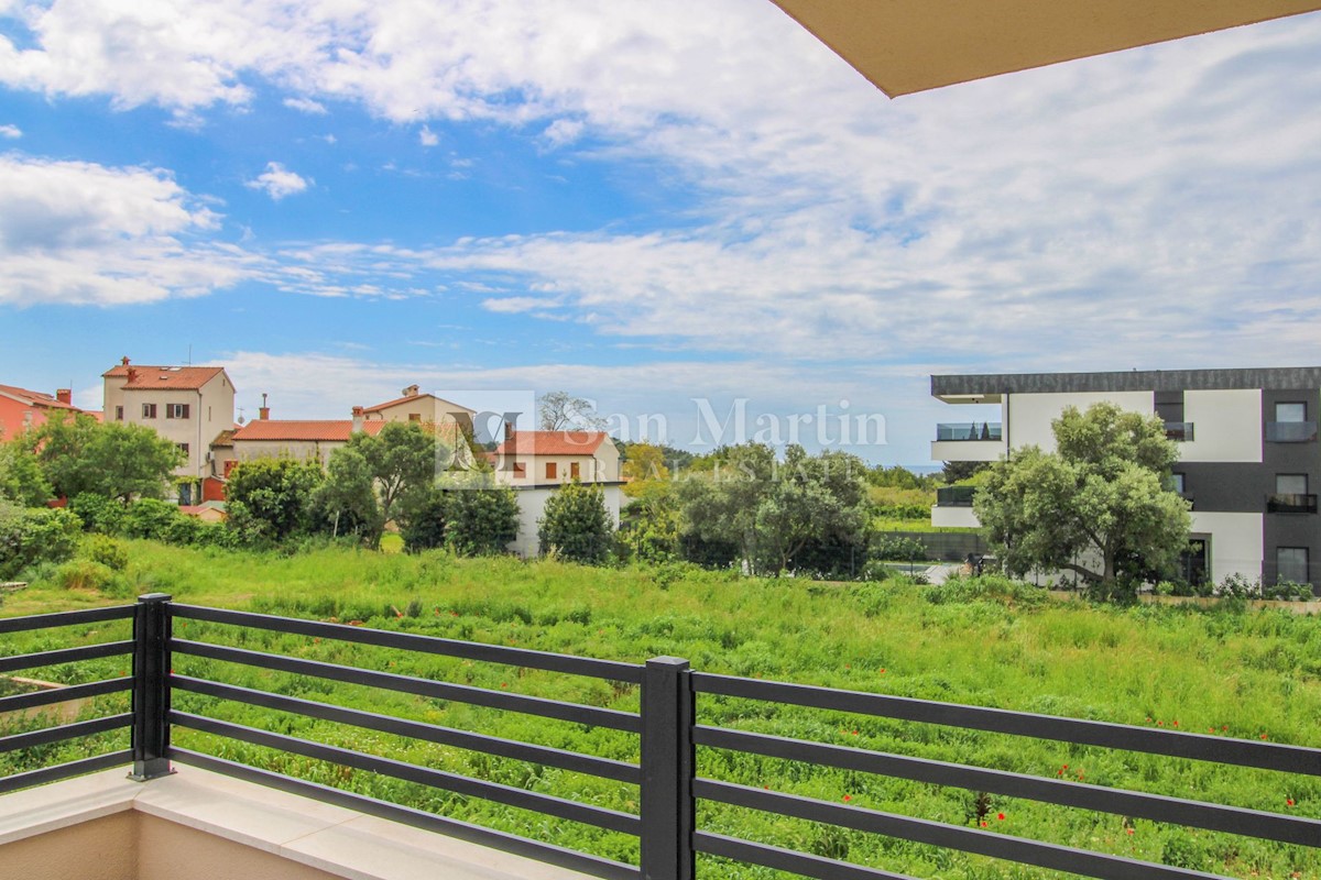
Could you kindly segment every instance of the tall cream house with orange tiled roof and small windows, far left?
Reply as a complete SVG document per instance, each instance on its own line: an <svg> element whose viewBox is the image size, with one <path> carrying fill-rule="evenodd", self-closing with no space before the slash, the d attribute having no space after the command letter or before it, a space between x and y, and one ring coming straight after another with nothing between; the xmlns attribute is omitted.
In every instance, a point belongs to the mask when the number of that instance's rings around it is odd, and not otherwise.
<svg viewBox="0 0 1321 880"><path fill-rule="evenodd" d="M102 373L107 422L144 425L176 443L188 460L184 480L211 475L211 443L234 427L234 383L223 367L151 367L123 361ZM193 492L181 484L180 499Z"/></svg>

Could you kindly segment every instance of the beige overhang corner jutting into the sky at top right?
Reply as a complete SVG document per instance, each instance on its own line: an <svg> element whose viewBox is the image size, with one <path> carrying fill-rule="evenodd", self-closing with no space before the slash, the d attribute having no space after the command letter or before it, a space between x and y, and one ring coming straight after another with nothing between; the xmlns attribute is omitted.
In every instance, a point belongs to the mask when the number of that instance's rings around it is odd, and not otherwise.
<svg viewBox="0 0 1321 880"><path fill-rule="evenodd" d="M1321 0L774 0L890 98L1321 9Z"/></svg>

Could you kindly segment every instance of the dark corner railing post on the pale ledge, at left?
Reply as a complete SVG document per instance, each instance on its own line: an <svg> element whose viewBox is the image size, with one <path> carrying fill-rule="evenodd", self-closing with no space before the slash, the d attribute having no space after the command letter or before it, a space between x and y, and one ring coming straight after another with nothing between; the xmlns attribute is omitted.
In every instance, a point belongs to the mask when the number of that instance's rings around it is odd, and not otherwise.
<svg viewBox="0 0 1321 880"><path fill-rule="evenodd" d="M139 782L168 776L169 602L164 592L137 596L133 616L133 772Z"/></svg>

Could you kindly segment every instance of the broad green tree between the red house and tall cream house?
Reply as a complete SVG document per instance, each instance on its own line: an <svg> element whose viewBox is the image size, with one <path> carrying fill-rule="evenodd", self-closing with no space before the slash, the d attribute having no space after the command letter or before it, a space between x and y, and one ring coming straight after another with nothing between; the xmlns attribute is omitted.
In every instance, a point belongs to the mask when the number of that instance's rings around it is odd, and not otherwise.
<svg viewBox="0 0 1321 880"><path fill-rule="evenodd" d="M24 435L58 497L92 492L119 499L165 496L182 450L141 425L102 425L91 416L50 420Z"/></svg>

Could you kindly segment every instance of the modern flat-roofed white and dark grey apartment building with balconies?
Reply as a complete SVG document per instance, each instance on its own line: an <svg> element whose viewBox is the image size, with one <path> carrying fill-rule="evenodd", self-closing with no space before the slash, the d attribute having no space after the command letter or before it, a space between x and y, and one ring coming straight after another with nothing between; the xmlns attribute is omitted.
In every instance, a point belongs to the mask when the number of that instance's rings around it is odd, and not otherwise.
<svg viewBox="0 0 1321 880"><path fill-rule="evenodd" d="M931 458L945 462L1052 450L1066 406L1156 413L1180 447L1174 488L1193 504L1184 577L1321 584L1321 367L931 376L931 396L1000 410L939 425ZM975 526L971 504L971 489L942 489L931 522Z"/></svg>

